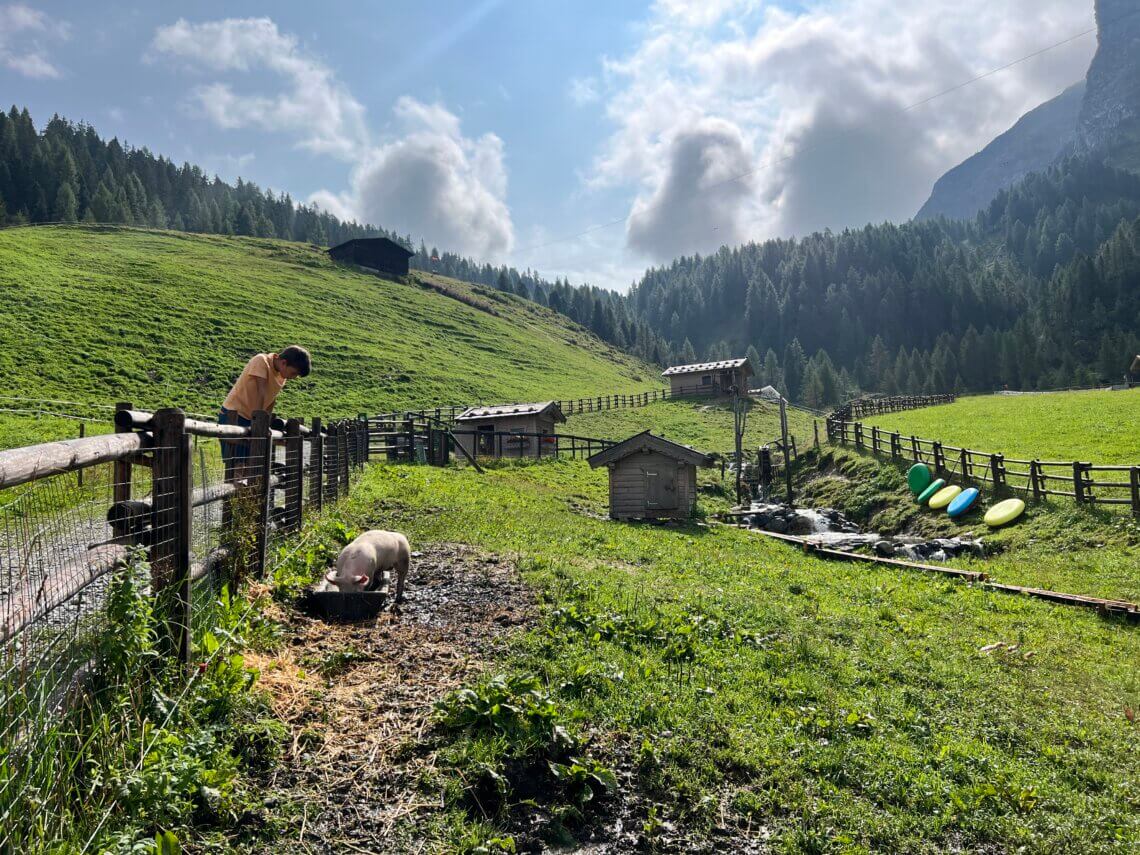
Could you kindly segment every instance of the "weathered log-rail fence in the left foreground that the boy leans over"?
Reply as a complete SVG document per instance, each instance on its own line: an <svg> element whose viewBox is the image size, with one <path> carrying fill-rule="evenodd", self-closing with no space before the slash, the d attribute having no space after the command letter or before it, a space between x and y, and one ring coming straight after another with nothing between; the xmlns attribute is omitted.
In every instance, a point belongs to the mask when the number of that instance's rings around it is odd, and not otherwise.
<svg viewBox="0 0 1140 855"><path fill-rule="evenodd" d="M188 662L192 584L222 569L231 575L263 576L270 536L299 530L304 511L342 496L350 471L368 459L367 427L359 420L323 427L320 420L303 425L299 420L282 422L259 412L249 427L238 427L188 418L176 408L145 413L121 404L114 426L109 434L0 451L0 489L100 464L111 464L113 471L106 512L111 537L90 544L85 555L50 568L44 578L25 579L19 588L7 592L0 614L0 645L121 567L130 549L142 547L150 565L152 591L168 610L163 616L168 652ZM229 466L225 480L195 487L193 437L249 443L250 456L241 471ZM279 448L284 461L276 459ZM132 470L137 467L149 473L149 495L132 496L137 481ZM235 554L235 539L223 534L220 545L193 561L195 511L217 504L221 505L222 527L237 526L238 521L249 524L247 548Z"/></svg>

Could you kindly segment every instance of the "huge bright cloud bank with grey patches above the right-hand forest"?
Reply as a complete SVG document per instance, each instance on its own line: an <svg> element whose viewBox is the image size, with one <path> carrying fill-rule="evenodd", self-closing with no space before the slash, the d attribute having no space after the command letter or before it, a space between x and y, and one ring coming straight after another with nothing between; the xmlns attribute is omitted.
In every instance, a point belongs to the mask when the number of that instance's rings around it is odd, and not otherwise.
<svg viewBox="0 0 1140 855"><path fill-rule="evenodd" d="M1096 47L1081 39L905 109L1088 28L1092 0L901 8L658 0L636 49L603 63L614 131L587 176L636 188L627 245L663 261L744 235L909 219L943 171L1083 76ZM727 164L749 173L733 192L711 177Z"/></svg>

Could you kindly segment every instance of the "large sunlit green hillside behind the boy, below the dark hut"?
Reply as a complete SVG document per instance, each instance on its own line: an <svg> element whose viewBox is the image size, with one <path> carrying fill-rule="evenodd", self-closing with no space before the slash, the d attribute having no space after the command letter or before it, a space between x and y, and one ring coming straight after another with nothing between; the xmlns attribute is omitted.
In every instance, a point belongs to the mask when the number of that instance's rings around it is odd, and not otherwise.
<svg viewBox="0 0 1140 855"><path fill-rule="evenodd" d="M286 386L284 414L660 386L659 369L532 302L423 274L380 279L282 241L7 230L0 300L0 376L13 397L214 413L252 353L291 343L310 349L315 369ZM8 443L49 427L74 435L66 423L5 416Z"/></svg>

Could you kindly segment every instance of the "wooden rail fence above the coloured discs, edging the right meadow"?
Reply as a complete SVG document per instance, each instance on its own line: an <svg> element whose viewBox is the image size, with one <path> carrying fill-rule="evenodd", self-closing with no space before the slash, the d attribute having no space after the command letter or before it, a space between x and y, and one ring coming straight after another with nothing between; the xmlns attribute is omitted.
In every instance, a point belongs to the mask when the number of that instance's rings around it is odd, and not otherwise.
<svg viewBox="0 0 1140 855"><path fill-rule="evenodd" d="M829 418L828 440L897 461L926 463L938 478L1017 490L1034 499L1064 496L1077 504L1127 505L1140 516L1140 465L1097 465L1083 461L1023 461L991 451L904 437L861 422Z"/></svg>

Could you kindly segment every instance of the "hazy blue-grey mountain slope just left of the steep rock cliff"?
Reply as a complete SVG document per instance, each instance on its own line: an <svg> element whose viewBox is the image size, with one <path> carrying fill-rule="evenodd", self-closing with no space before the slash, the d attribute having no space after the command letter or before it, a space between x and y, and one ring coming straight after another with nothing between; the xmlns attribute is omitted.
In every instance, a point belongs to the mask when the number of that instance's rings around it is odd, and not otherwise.
<svg viewBox="0 0 1140 855"><path fill-rule="evenodd" d="M1048 169L1076 137L1084 81L1021 116L990 145L939 178L915 219L967 219L999 190Z"/></svg>

